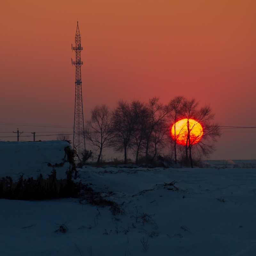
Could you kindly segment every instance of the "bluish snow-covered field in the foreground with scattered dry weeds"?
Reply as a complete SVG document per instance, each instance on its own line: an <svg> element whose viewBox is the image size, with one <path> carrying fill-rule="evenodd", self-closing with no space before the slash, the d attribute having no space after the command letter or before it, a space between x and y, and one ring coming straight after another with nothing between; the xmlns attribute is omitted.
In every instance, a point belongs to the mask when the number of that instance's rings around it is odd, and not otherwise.
<svg viewBox="0 0 256 256"><path fill-rule="evenodd" d="M1 199L0 255L255 255L255 168L87 167L80 174L120 213L74 198Z"/></svg>

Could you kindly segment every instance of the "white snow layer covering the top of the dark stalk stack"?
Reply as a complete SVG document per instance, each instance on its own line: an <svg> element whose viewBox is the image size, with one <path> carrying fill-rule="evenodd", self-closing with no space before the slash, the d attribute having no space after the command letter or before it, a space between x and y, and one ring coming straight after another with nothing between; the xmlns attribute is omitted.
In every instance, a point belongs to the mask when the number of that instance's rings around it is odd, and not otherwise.
<svg viewBox="0 0 256 256"><path fill-rule="evenodd" d="M57 180L65 179L72 169L65 148L70 144L63 140L51 141L0 141L0 178L11 177L13 182L20 179L37 179L42 174L47 179L56 170Z"/></svg>

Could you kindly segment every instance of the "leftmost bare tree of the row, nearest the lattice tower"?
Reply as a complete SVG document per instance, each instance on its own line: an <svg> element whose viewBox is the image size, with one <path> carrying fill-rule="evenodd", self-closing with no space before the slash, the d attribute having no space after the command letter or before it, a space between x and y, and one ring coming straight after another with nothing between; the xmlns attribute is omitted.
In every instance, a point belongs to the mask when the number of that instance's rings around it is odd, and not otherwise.
<svg viewBox="0 0 256 256"><path fill-rule="evenodd" d="M97 164L100 163L102 150L109 146L113 138L113 129L111 127L111 112L108 106L96 106L91 110L91 119L86 121L85 137L90 145L99 152Z"/></svg>

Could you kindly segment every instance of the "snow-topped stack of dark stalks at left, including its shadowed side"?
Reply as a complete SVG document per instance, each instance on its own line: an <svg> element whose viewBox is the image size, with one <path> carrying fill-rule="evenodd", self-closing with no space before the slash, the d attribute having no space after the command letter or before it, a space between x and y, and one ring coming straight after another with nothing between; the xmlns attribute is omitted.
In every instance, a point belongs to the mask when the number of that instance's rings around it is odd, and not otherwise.
<svg viewBox="0 0 256 256"><path fill-rule="evenodd" d="M76 168L67 141L0 141L0 156L0 198L71 196Z"/></svg>

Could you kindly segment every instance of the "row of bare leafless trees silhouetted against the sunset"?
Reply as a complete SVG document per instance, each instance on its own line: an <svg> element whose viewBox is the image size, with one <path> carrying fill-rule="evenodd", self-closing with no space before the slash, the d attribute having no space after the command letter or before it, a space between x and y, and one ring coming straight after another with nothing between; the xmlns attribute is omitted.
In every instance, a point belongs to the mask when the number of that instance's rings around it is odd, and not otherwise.
<svg viewBox="0 0 256 256"><path fill-rule="evenodd" d="M172 145L170 157L174 163L185 159L188 164L190 160L193 167L192 155L210 154L214 149L213 142L220 136L220 126L212 123L212 109L209 106L198 108L198 105L195 99L187 100L181 96L166 105L156 97L146 103L120 100L113 110L106 105L97 105L91 110L91 119L86 121L85 137L98 154L98 164L106 147L123 152L124 164L128 152L138 164L139 159L152 162L162 149ZM186 145L177 144L176 133L174 138L170 136L172 125L183 118L194 119L202 125L203 137L198 143L190 140L189 132Z"/></svg>

